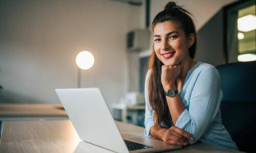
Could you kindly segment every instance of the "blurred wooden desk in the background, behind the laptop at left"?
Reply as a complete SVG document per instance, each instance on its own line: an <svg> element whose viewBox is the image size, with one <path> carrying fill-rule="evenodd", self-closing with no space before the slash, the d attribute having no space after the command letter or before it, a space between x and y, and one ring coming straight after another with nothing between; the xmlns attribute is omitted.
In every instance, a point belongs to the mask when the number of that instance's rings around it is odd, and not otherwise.
<svg viewBox="0 0 256 153"><path fill-rule="evenodd" d="M0 120L68 119L62 105L1 104Z"/></svg>

